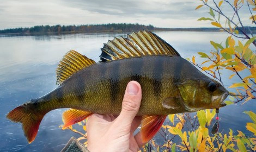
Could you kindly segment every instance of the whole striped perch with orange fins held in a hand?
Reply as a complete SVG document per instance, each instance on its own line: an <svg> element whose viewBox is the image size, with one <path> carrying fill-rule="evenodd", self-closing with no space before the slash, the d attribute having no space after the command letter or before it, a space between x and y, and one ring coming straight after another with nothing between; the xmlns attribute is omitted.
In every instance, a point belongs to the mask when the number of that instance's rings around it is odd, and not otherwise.
<svg viewBox="0 0 256 152"><path fill-rule="evenodd" d="M155 136L167 115L223 107L229 94L147 30L108 40L99 62L70 50L59 62L56 75L56 89L7 115L10 121L22 123L28 143L35 140L42 118L54 109L71 108L63 112L63 128L93 113L119 115L131 80L142 87L137 116L142 116L143 142Z"/></svg>

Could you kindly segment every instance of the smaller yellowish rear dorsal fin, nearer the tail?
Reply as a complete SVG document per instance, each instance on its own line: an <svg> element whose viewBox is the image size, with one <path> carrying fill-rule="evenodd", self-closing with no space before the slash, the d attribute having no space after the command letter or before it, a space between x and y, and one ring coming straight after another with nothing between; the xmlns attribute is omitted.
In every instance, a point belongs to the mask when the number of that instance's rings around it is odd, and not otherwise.
<svg viewBox="0 0 256 152"><path fill-rule="evenodd" d="M95 61L87 58L86 56L70 50L63 56L56 69L57 85L61 85L72 74L80 71L80 69L95 64Z"/></svg>

